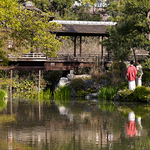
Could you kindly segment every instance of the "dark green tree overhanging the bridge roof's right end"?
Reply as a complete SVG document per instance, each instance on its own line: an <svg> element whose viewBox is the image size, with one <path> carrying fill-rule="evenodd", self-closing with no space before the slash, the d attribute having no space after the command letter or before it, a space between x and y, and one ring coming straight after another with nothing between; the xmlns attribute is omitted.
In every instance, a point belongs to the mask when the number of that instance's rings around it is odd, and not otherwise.
<svg viewBox="0 0 150 150"><path fill-rule="evenodd" d="M107 10L116 26L109 27L109 37L104 40L108 51L113 52L117 60L125 60L131 50L142 48L150 50L150 33L147 17L150 12L149 0L123 0L112 2Z"/></svg>

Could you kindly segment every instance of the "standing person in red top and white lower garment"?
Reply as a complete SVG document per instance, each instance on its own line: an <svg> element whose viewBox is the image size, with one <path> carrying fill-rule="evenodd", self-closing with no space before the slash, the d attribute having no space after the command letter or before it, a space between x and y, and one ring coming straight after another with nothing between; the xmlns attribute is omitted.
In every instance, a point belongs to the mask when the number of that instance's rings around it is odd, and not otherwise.
<svg viewBox="0 0 150 150"><path fill-rule="evenodd" d="M133 61L130 61L130 66L127 69L126 76L128 78L128 88L129 90L134 90L136 87L135 79L137 78L137 70L133 65Z"/></svg>

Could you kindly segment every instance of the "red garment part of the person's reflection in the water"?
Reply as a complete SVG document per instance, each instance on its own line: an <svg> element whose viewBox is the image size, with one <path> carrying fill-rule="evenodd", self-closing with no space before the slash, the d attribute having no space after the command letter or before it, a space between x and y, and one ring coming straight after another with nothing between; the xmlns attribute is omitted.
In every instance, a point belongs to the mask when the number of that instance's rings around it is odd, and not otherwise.
<svg viewBox="0 0 150 150"><path fill-rule="evenodd" d="M127 135L129 137L135 136L136 133L136 123L135 121L128 121L127 123Z"/></svg>

